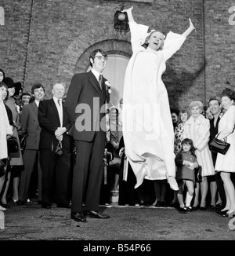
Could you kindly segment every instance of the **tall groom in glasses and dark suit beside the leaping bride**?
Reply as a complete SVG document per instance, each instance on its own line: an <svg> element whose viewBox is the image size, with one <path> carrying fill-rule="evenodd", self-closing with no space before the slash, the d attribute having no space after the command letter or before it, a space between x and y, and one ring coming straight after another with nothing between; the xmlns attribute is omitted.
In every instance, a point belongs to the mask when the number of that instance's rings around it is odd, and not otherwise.
<svg viewBox="0 0 235 256"><path fill-rule="evenodd" d="M110 218L99 211L106 140L106 109L101 107L110 101L107 80L102 75L107 64L107 53L96 49L91 53L89 61L92 70L73 76L66 98L72 125L69 133L74 137L76 145L71 218L81 222L86 221L86 216Z"/></svg>

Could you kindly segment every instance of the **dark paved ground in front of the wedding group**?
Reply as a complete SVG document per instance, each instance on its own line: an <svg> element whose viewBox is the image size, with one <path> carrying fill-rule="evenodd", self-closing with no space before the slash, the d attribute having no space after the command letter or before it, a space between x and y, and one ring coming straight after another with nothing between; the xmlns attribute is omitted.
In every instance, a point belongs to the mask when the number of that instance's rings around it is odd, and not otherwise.
<svg viewBox="0 0 235 256"><path fill-rule="evenodd" d="M42 209L37 203L24 207L10 202L0 240L235 240L232 218L212 210L181 214L174 208L100 207L110 219L87 218L78 223L70 209ZM235 225L235 218L234 218Z"/></svg>

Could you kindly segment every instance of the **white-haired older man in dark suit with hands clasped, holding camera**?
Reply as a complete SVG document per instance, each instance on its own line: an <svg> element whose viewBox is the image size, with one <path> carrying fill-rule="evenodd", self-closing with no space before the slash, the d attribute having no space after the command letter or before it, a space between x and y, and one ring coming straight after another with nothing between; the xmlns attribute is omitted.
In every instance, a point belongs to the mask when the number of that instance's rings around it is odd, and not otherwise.
<svg viewBox="0 0 235 256"><path fill-rule="evenodd" d="M52 199L57 207L70 208L69 181L71 174L71 129L69 116L63 106L65 85L56 83L52 87L53 97L41 101L38 107L38 121L42 128L39 150L42 167L42 208L51 208ZM56 147L62 143L63 155L56 155ZM55 183L55 194L52 190Z"/></svg>

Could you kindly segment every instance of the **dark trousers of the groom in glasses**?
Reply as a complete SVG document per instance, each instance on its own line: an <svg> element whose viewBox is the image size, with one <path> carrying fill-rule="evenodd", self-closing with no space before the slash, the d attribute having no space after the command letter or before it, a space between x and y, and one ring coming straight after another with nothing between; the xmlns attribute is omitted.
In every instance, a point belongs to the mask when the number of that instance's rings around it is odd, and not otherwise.
<svg viewBox="0 0 235 256"><path fill-rule="evenodd" d="M73 170L71 212L81 212L83 200L84 210L99 210L105 136L103 131L98 131L91 142L75 141L77 150Z"/></svg>

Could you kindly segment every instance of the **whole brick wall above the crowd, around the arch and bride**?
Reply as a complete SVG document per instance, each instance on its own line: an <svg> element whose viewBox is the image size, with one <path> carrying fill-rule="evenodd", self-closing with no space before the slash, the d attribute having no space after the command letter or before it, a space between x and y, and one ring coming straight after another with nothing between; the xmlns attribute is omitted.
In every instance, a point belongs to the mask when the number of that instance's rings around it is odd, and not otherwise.
<svg viewBox="0 0 235 256"><path fill-rule="evenodd" d="M235 25L229 13L235 1L153 0L125 1L133 5L137 22L152 29L182 33L193 20L197 32L168 60L163 75L172 107L190 101L208 102L235 77ZM5 25L0 26L0 68L30 91L42 82L47 97L52 84L69 85L74 71L85 71L96 46L109 53L132 54L130 34L114 31L114 13L119 1L105 0L0 0ZM235 19L234 19L235 20Z"/></svg>

